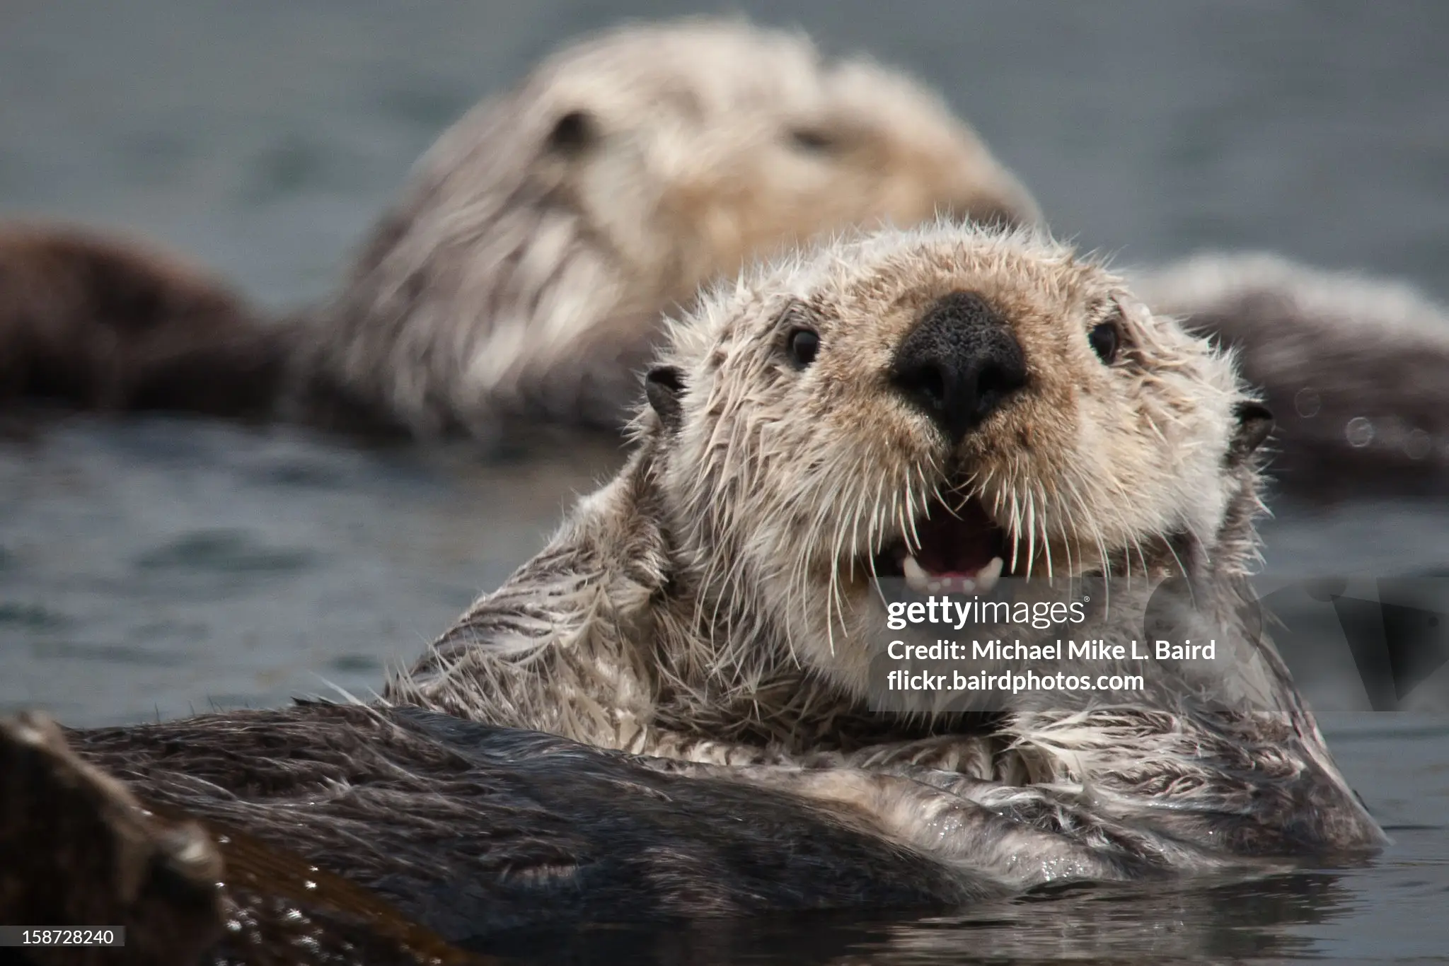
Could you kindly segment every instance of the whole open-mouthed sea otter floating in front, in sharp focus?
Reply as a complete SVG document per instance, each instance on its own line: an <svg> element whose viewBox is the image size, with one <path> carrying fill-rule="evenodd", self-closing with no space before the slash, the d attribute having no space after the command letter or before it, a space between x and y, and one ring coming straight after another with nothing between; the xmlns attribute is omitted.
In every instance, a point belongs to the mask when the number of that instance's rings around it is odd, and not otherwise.
<svg viewBox="0 0 1449 966"><path fill-rule="evenodd" d="M1245 607L1266 413L1119 278L949 223L839 242L706 295L646 390L619 476L380 707L71 747L454 941L507 915L952 904L1382 844ZM1082 604L972 636L1151 630L1216 656L993 659L1142 681L877 710L888 602L932 582ZM12 843L54 785L0 798Z"/></svg>

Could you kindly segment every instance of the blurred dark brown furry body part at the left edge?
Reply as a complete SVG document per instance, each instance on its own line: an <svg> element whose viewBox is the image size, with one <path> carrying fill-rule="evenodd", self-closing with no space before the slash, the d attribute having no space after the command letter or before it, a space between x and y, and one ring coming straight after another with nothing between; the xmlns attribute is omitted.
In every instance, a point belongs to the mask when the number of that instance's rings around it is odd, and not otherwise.
<svg viewBox="0 0 1449 966"><path fill-rule="evenodd" d="M262 416L287 355L285 330L158 249L0 232L0 403Z"/></svg>

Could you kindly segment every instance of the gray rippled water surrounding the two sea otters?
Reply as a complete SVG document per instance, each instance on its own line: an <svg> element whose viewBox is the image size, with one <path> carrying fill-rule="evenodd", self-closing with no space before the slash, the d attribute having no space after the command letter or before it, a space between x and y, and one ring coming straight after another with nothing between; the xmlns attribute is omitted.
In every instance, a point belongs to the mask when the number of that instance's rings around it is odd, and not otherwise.
<svg viewBox="0 0 1449 966"><path fill-rule="evenodd" d="M326 291L480 94L581 30L685 9L719 7L6 0L0 216L142 232L293 306ZM1265 248L1449 297L1449 4L739 9L942 90L1084 246L1130 262ZM0 437L0 711L83 726L365 697L617 459L604 446L484 463L164 419ZM1449 565L1449 501L1275 510L1266 579ZM1449 668L1410 695L1416 714L1364 713L1335 633L1288 656L1395 839L1365 868L1068 889L946 920L610 930L559 954L1446 962Z"/></svg>

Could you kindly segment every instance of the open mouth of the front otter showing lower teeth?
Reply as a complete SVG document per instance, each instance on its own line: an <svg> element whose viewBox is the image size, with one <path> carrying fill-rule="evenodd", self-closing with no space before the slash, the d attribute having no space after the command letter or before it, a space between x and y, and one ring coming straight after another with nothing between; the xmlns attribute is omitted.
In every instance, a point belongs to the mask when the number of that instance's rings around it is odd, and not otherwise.
<svg viewBox="0 0 1449 966"><path fill-rule="evenodd" d="M875 558L875 575L904 576L917 594L987 594L1006 569L1007 534L972 497L956 508L933 501L910 534Z"/></svg>

